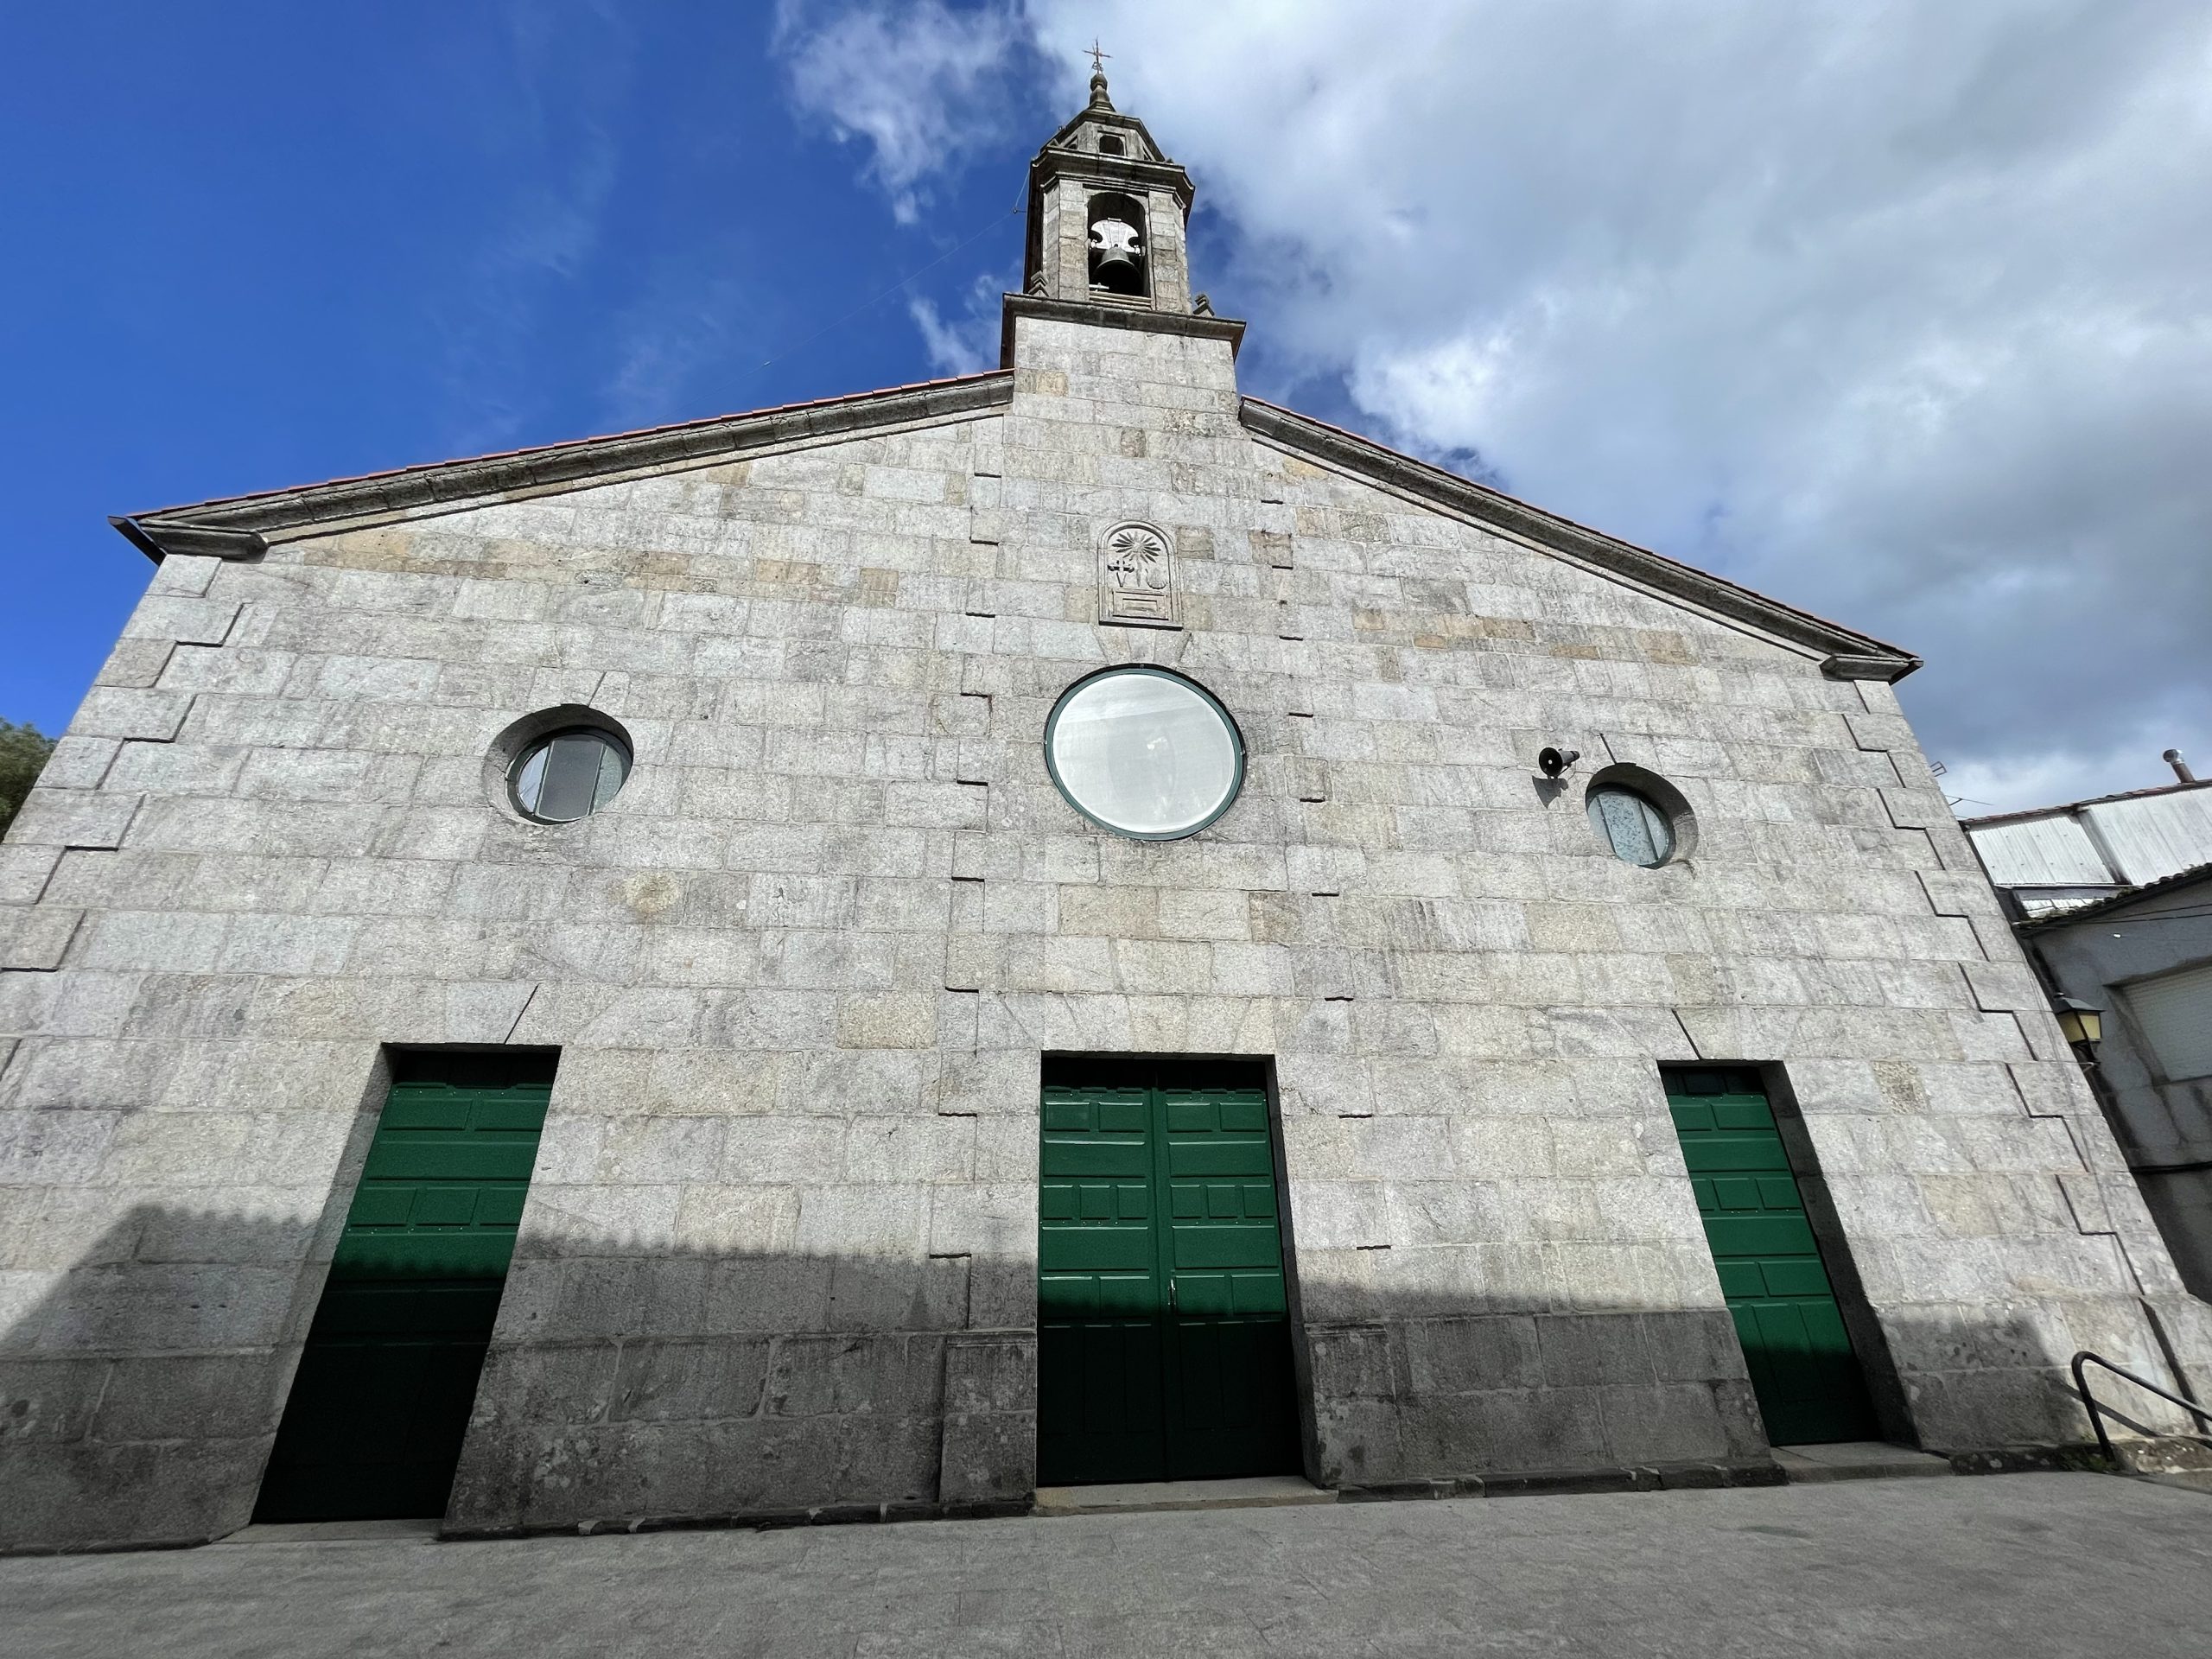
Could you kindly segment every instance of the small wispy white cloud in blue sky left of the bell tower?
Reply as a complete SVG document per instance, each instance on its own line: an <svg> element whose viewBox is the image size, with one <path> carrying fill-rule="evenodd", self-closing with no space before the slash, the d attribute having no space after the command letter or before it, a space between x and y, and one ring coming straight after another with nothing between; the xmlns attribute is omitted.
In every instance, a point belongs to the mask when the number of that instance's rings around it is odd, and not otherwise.
<svg viewBox="0 0 2212 1659"><path fill-rule="evenodd" d="M838 139L869 146L869 175L898 221L914 223L920 181L998 135L998 88L1026 38L1020 11L1002 0L962 11L942 0L821 11L799 0L776 11L792 100Z"/></svg>

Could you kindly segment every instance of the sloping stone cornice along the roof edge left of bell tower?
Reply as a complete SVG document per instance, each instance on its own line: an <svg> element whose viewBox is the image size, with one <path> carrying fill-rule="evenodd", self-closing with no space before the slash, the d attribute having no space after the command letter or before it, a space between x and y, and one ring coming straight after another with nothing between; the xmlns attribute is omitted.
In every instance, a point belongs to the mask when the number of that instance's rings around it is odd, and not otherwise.
<svg viewBox="0 0 2212 1659"><path fill-rule="evenodd" d="M228 495L195 507L164 507L108 520L146 557L199 553L223 560L259 557L268 538L349 520L403 518L469 502L504 500L560 487L611 482L630 473L741 460L761 449L863 434L880 427L931 425L1004 407L1013 376L1004 369L960 380L860 392L821 403L792 403L677 427L577 438L504 456L440 460L327 484Z"/></svg>

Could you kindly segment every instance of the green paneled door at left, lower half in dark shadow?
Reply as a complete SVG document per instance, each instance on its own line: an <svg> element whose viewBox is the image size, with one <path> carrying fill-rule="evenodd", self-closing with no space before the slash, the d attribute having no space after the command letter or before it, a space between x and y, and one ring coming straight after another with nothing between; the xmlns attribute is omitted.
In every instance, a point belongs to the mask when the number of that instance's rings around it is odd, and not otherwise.
<svg viewBox="0 0 2212 1659"><path fill-rule="evenodd" d="M254 1520L445 1513L549 1093L392 1086Z"/></svg>

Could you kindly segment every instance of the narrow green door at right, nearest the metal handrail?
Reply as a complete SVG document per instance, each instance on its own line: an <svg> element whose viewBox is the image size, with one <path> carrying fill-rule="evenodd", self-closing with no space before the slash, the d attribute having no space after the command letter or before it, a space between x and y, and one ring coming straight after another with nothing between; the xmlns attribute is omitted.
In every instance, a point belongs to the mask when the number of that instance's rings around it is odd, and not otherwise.
<svg viewBox="0 0 2212 1659"><path fill-rule="evenodd" d="M1759 1073L1681 1071L1666 1086L1767 1440L1880 1438Z"/></svg>

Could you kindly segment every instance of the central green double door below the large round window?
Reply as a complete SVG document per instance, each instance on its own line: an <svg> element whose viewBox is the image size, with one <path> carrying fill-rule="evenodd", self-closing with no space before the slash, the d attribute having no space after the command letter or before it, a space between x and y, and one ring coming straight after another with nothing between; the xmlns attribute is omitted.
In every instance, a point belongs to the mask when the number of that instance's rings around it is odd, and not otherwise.
<svg viewBox="0 0 2212 1659"><path fill-rule="evenodd" d="M1265 1075L1046 1062L1037 1482L1298 1469Z"/></svg>

